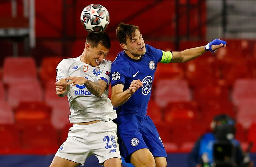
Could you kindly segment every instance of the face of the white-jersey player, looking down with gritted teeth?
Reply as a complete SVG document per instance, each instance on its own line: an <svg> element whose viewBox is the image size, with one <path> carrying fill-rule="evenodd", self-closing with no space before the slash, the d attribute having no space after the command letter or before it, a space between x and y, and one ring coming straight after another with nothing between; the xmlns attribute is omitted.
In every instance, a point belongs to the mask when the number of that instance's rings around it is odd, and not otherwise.
<svg viewBox="0 0 256 167"><path fill-rule="evenodd" d="M88 45L88 43L86 44ZM105 48L100 43L97 47L92 48L89 44L89 47L87 49L87 57L86 57L86 63L91 65L92 67L96 67L100 65L100 63L105 59L105 57L108 54L109 49Z"/></svg>

